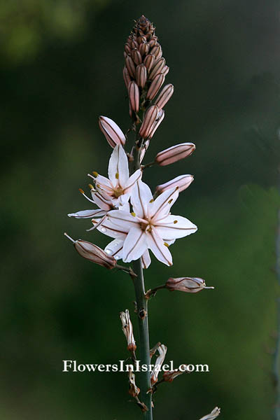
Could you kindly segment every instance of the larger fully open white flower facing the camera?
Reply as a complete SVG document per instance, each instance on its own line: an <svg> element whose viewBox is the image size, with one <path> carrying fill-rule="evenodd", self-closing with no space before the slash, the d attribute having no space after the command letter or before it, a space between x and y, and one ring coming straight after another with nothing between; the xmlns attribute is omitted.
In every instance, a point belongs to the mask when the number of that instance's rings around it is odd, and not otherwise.
<svg viewBox="0 0 280 420"><path fill-rule="evenodd" d="M153 200L150 188L138 181L130 197L133 212L109 211L98 227L105 235L115 238L105 251L124 262L142 258L144 267L148 267L151 262L148 249L151 249L158 260L172 265L168 246L197 230L187 218L170 214L178 195L179 188L176 187Z"/></svg>

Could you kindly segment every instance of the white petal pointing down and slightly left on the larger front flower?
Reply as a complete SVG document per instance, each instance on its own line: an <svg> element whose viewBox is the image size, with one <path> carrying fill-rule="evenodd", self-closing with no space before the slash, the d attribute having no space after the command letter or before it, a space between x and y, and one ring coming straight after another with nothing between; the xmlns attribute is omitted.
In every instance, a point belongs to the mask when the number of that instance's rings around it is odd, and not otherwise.
<svg viewBox="0 0 280 420"><path fill-rule="evenodd" d="M131 228L123 244L123 262L137 260L147 250L146 232L139 227Z"/></svg>

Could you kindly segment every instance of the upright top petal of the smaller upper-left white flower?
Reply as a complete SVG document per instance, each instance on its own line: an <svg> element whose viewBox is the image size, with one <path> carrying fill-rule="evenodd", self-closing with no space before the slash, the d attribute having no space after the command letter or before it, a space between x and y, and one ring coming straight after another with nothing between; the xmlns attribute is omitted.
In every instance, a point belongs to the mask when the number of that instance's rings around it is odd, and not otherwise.
<svg viewBox="0 0 280 420"><path fill-rule="evenodd" d="M114 187L119 185L123 188L130 178L127 155L120 144L114 148L111 154L108 175Z"/></svg>

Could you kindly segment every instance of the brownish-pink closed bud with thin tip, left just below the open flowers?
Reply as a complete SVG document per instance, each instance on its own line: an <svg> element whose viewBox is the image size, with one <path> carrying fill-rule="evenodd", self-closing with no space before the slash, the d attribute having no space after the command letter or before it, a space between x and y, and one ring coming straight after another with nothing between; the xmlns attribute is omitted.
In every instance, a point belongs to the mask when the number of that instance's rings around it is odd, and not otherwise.
<svg viewBox="0 0 280 420"><path fill-rule="evenodd" d="M90 242L83 241L83 239L78 239L74 241L66 233L64 235L73 242L73 246L76 251L87 260L95 262L95 264L102 265L102 267L112 269L116 266L117 261L115 258L108 255L102 248L99 246L91 244Z"/></svg>

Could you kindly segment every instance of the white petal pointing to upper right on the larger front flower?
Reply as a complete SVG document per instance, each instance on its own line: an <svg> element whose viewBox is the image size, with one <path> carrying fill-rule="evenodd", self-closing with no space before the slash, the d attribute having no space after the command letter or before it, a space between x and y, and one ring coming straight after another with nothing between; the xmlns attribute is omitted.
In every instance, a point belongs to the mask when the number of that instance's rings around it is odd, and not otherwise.
<svg viewBox="0 0 280 420"><path fill-rule="evenodd" d="M170 190L160 194L160 196L149 205L148 212L149 216L153 218L153 223L155 223L155 221L160 221L161 218L165 218L165 216L169 214L169 211L174 202L176 202L178 196L179 188L170 188Z"/></svg>

